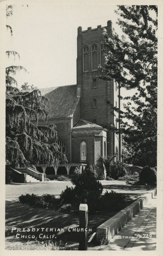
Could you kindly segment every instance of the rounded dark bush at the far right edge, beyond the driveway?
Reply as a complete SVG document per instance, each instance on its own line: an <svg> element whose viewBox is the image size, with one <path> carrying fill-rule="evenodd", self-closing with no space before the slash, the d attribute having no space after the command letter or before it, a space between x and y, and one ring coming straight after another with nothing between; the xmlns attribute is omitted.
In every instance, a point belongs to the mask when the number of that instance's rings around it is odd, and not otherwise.
<svg viewBox="0 0 163 256"><path fill-rule="evenodd" d="M139 175L139 181L143 184L154 185L157 181L157 173L154 168L149 166L143 167Z"/></svg>

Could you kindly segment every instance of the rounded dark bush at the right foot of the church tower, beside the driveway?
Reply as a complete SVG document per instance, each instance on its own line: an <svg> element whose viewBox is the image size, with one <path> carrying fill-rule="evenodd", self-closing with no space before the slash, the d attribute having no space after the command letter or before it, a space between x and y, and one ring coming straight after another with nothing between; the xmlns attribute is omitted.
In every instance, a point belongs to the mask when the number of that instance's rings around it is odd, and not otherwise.
<svg viewBox="0 0 163 256"><path fill-rule="evenodd" d="M111 162L110 164L110 177L118 180L119 177L123 177L127 175L127 170L125 168L124 163L117 161L117 162Z"/></svg>

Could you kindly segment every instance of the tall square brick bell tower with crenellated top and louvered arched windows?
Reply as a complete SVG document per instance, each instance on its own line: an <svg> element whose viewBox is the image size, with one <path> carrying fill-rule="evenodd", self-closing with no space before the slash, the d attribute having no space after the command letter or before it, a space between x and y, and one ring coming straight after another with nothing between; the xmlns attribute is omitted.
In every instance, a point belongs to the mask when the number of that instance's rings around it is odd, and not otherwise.
<svg viewBox="0 0 163 256"><path fill-rule="evenodd" d="M112 37L112 23L108 20L106 27L99 25L95 29L88 27L82 31L78 28L77 37L77 85L81 95L81 118L105 127L107 132L107 155L117 155L121 160L121 138L109 131L111 125L118 126L116 117L111 113L110 104L119 107L119 89L113 80L99 79L99 65L105 65L103 29ZM117 115L117 113L114 113Z"/></svg>

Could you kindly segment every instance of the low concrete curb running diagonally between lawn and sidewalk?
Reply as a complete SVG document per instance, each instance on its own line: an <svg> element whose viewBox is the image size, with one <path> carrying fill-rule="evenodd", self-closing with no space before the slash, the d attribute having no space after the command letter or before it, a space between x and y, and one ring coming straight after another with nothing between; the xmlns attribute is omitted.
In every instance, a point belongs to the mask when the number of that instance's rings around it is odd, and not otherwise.
<svg viewBox="0 0 163 256"><path fill-rule="evenodd" d="M97 227L97 241L112 239L125 224L131 220L137 212L139 212L143 206L147 204L152 198L156 196L156 189L150 193L146 193L144 196L138 198L135 202L127 206L125 209L118 212L108 221L105 221L99 227Z"/></svg>

